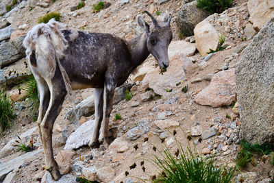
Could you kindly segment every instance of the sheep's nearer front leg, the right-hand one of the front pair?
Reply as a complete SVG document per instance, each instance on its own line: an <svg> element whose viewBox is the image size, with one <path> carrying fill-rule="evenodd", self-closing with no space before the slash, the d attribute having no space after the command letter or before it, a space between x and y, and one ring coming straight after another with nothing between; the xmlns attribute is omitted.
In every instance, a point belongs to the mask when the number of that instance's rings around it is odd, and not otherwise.
<svg viewBox="0 0 274 183"><path fill-rule="evenodd" d="M114 89L116 88L113 82L106 82L103 90L103 121L99 142L108 147L108 123L110 121L110 112L112 110L112 102L114 97Z"/></svg>

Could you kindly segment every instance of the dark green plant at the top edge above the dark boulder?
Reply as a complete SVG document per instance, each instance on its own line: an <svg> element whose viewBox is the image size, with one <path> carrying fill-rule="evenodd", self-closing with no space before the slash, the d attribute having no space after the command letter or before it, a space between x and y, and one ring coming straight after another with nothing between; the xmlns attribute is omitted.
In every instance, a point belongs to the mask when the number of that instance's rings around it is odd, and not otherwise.
<svg viewBox="0 0 274 183"><path fill-rule="evenodd" d="M232 0L196 0L197 8L213 13L221 13L232 7Z"/></svg>

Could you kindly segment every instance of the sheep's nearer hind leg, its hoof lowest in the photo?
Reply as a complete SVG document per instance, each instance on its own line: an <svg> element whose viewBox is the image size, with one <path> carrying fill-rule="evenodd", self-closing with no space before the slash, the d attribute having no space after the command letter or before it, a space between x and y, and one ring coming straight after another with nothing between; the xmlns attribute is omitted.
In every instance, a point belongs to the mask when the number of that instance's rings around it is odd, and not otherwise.
<svg viewBox="0 0 274 183"><path fill-rule="evenodd" d="M58 82L47 82L47 84L49 86L51 97L45 117L42 119L42 123L40 123L40 130L42 144L45 151L45 169L51 173L53 180L59 180L62 175L58 169L58 164L55 162L53 157L52 130L54 121L62 109L66 90L62 89L64 86L60 86L60 83Z"/></svg>

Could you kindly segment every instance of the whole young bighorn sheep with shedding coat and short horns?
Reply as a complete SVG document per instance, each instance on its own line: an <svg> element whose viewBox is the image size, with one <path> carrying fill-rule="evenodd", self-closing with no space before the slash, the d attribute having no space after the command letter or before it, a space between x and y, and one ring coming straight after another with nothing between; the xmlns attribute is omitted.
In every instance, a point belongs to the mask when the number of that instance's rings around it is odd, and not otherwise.
<svg viewBox="0 0 274 183"><path fill-rule="evenodd" d="M160 68L169 66L168 47L172 40L171 16L158 21L147 11L153 24L137 16L145 30L132 40L112 34L86 33L63 29L61 23L36 25L23 42L28 64L36 82L40 99L38 126L45 151L45 169L54 180L61 178L53 158L53 123L62 109L66 93L82 88L95 88L95 129L90 147L108 145L108 122L114 89L151 53ZM103 125L101 125L103 123ZM101 127L101 133L99 135Z"/></svg>

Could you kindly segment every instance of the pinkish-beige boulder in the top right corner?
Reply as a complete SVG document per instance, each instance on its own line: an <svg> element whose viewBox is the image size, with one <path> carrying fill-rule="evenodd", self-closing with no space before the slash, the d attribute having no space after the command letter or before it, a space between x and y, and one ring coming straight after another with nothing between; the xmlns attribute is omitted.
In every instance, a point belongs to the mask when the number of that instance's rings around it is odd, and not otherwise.
<svg viewBox="0 0 274 183"><path fill-rule="evenodd" d="M250 8L251 5L249 5ZM258 1L258 5L255 10L251 12L249 21L253 23L253 28L256 31L260 31L262 26L264 26L270 19L274 16L274 1L264 0Z"/></svg>

